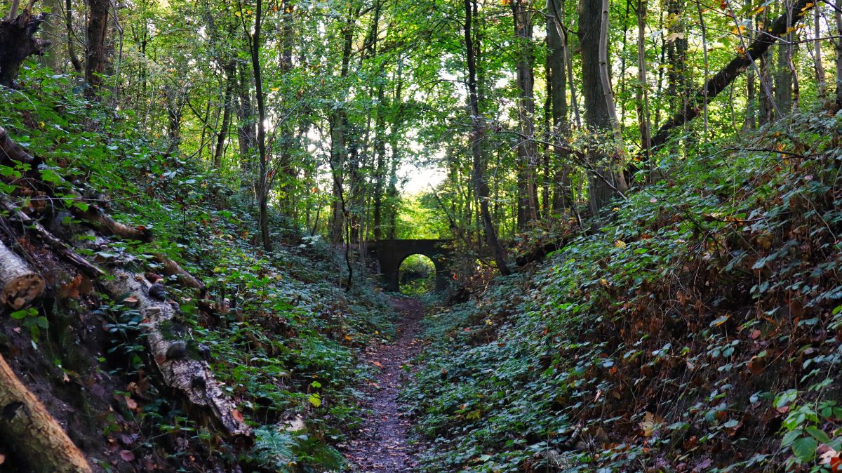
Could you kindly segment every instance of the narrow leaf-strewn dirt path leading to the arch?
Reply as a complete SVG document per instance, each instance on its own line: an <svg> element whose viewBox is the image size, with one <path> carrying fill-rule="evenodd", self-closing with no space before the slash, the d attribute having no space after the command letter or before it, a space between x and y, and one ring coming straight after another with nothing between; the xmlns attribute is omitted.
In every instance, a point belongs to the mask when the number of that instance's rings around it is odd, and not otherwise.
<svg viewBox="0 0 842 473"><path fill-rule="evenodd" d="M397 339L391 345L372 346L363 355L381 369L374 384L363 389L370 397L366 407L371 412L365 417L358 438L345 451L352 471L359 473L404 473L415 470L417 464L407 441L410 422L398 412L397 395L408 379L402 366L421 349L416 337L424 306L413 299L394 299L392 305L404 314L397 327Z"/></svg>

